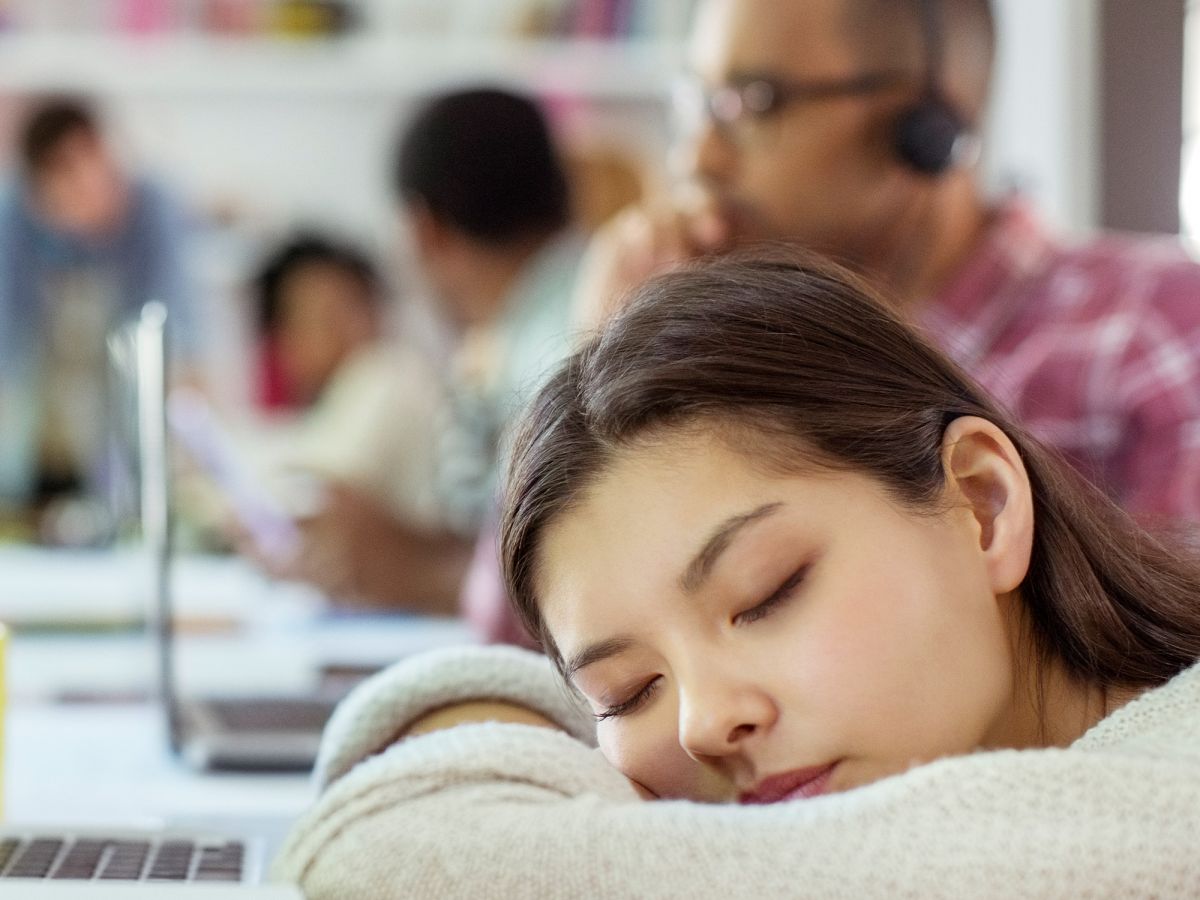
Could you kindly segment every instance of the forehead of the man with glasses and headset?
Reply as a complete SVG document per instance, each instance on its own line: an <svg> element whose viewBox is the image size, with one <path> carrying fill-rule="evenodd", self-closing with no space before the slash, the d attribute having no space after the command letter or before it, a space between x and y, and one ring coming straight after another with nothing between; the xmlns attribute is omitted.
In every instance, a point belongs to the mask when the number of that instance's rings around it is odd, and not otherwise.
<svg viewBox="0 0 1200 900"><path fill-rule="evenodd" d="M850 0L702 0L689 58L703 78L779 72L844 74L856 54L846 26Z"/></svg>

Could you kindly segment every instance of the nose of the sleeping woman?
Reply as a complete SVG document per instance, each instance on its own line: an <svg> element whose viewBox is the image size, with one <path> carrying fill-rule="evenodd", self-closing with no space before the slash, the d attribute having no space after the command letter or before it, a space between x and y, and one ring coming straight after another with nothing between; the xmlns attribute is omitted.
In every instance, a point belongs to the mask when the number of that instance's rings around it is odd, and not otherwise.
<svg viewBox="0 0 1200 900"><path fill-rule="evenodd" d="M779 713L761 688L708 673L679 689L679 744L697 762L742 752Z"/></svg>

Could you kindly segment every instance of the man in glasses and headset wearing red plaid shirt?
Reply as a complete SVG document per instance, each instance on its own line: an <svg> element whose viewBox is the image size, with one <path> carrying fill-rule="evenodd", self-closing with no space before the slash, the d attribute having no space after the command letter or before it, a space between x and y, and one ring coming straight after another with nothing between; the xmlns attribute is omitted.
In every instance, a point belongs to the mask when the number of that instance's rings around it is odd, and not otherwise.
<svg viewBox="0 0 1200 900"><path fill-rule="evenodd" d="M702 0L686 191L593 245L582 314L696 256L787 242L872 281L1130 512L1200 520L1200 268L1068 246L979 184L988 0Z"/></svg>

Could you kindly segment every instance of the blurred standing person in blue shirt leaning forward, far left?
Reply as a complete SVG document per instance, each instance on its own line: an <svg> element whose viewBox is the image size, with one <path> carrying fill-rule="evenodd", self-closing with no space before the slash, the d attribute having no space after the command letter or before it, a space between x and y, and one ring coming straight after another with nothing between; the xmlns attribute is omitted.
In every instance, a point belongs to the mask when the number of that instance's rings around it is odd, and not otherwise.
<svg viewBox="0 0 1200 900"><path fill-rule="evenodd" d="M36 107L17 156L0 197L0 504L49 504L41 527L53 532L55 502L110 487L106 335L162 300L186 368L197 323L185 216L125 170L86 102Z"/></svg>

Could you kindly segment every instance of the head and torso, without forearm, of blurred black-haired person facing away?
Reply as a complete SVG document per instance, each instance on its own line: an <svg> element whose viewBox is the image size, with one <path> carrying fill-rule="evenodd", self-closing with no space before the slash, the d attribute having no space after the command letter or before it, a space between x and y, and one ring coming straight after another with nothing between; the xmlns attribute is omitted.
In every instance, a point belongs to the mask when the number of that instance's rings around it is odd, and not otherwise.
<svg viewBox="0 0 1200 900"><path fill-rule="evenodd" d="M568 349L584 240L542 112L504 90L425 106L401 139L396 190L457 337L444 484L478 528L494 503L500 432Z"/></svg>

